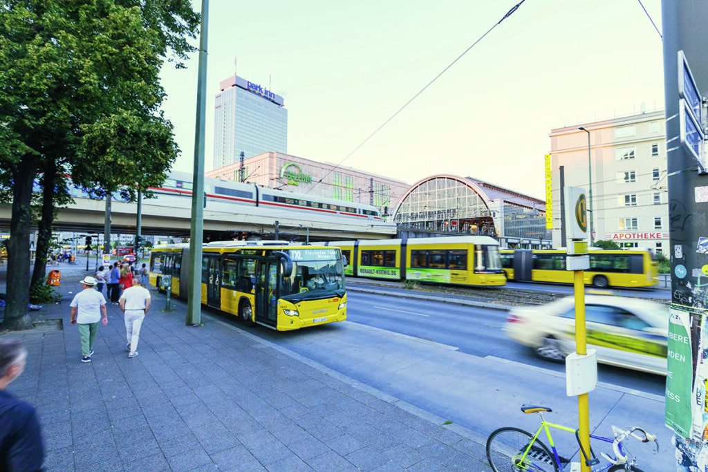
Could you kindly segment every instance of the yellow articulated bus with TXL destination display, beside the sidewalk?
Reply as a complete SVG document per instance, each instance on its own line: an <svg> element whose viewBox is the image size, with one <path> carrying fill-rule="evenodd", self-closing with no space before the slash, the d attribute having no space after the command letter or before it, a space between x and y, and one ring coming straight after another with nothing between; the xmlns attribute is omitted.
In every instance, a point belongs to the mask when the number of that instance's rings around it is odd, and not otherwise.
<svg viewBox="0 0 708 472"><path fill-rule="evenodd" d="M188 245L157 246L150 284L187 298ZM283 241L227 241L202 248L201 302L275 330L347 318L344 264L338 248Z"/></svg>

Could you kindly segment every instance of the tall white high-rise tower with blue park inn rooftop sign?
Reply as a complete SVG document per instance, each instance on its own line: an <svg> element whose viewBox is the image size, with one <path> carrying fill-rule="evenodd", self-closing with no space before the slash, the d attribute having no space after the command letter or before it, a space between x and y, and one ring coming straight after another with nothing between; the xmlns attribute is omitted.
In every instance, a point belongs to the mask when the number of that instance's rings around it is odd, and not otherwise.
<svg viewBox="0 0 708 472"><path fill-rule="evenodd" d="M282 97L233 76L219 83L214 105L214 167L268 151L287 152L287 110Z"/></svg>

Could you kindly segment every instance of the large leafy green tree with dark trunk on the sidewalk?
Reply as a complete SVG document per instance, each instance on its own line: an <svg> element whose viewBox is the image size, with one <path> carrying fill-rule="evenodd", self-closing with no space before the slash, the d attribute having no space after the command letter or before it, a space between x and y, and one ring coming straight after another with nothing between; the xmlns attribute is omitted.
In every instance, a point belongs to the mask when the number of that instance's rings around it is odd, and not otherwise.
<svg viewBox="0 0 708 472"><path fill-rule="evenodd" d="M0 0L0 173L11 191L6 329L31 326L29 236L35 180L40 238L71 175L93 197L133 198L178 155L159 107L167 58L182 67L199 16L188 0ZM50 212L50 207L52 211ZM38 241L39 245L39 241Z"/></svg>

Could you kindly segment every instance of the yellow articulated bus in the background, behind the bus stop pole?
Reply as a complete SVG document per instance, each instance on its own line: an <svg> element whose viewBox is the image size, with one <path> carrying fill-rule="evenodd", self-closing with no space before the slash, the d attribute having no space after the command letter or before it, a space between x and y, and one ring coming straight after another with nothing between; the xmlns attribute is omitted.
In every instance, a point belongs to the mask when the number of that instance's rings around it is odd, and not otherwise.
<svg viewBox="0 0 708 472"><path fill-rule="evenodd" d="M508 280L572 284L573 271L566 270L562 249L502 249L501 265ZM592 249L586 285L595 287L653 287L658 284L658 264L649 250Z"/></svg>

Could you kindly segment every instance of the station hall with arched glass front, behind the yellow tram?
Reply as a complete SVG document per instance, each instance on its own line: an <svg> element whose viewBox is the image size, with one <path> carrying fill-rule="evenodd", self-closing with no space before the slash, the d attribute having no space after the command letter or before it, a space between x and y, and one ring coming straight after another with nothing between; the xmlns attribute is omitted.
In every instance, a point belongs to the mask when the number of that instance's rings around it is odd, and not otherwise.
<svg viewBox="0 0 708 472"><path fill-rule="evenodd" d="M413 184L396 205L393 221L409 238L484 235L503 248L550 248L546 203L483 180L431 175Z"/></svg>

